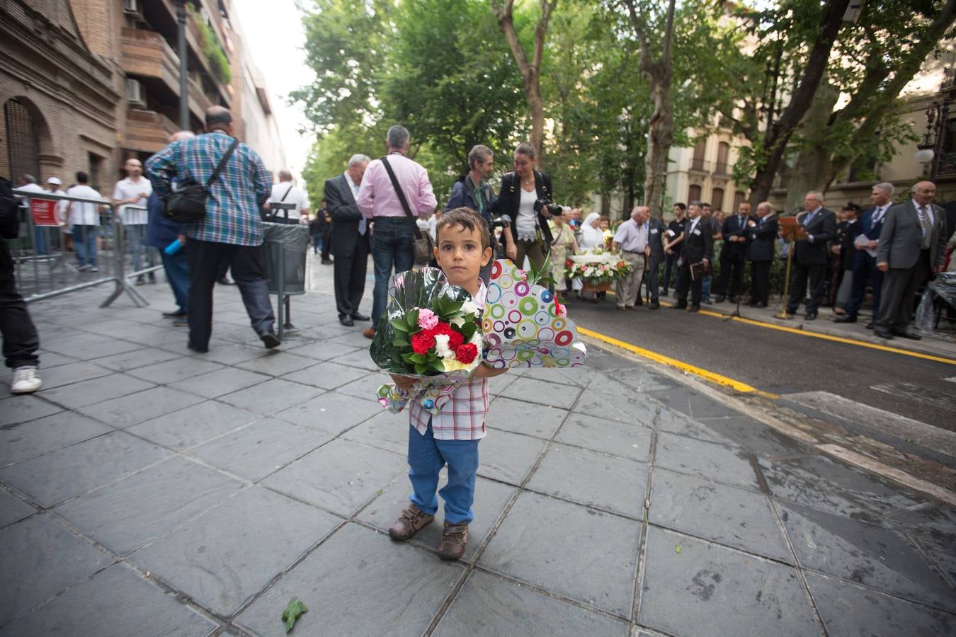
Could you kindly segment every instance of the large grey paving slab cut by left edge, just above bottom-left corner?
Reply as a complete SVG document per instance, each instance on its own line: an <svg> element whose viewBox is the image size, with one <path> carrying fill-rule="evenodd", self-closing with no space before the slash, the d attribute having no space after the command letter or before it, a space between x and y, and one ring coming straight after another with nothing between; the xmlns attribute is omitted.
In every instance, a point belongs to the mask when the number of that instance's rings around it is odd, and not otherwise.
<svg viewBox="0 0 956 637"><path fill-rule="evenodd" d="M0 546L0 626L113 562L42 515L0 530Z"/></svg>

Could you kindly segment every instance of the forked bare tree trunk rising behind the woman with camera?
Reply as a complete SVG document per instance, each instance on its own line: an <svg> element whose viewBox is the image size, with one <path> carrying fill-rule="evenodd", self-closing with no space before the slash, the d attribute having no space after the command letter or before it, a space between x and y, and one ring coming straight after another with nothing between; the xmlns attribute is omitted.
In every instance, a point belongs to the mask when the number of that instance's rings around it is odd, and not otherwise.
<svg viewBox="0 0 956 637"><path fill-rule="evenodd" d="M498 18L498 28L505 34L511 55L518 65L521 79L525 85L525 94L528 99L528 110L532 114L532 144L538 153L544 147L544 100L541 97L541 60L544 55L544 43L548 35L548 21L557 0L539 0L541 14L534 26L534 40L532 54L529 60L524 45L518 38L514 28L514 0L491 0L491 8ZM540 161L543 162L543 155Z"/></svg>

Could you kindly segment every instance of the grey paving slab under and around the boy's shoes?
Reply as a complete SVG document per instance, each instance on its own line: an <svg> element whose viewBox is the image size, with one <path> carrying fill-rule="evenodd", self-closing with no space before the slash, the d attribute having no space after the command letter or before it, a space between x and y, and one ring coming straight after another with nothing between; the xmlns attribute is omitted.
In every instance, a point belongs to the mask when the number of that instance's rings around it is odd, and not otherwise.
<svg viewBox="0 0 956 637"><path fill-rule="evenodd" d="M447 478L447 470L443 469L439 479L440 490L445 486ZM411 491L412 487L408 478L402 475L382 489L380 496L362 509L357 518L372 524L382 533L385 533L392 522L402 514L402 510L408 506L408 497L411 495ZM488 537L491 528L498 520L501 512L505 510L505 505L508 504L514 492L515 488L509 484L502 484L486 478L476 478L475 501L471 507L474 510L475 518L468 524L468 543L465 547L465 555L462 557L465 562L472 561L478 546ZM435 521L415 534L409 540L410 543L431 551L437 549L445 523L445 506L441 496L438 497L438 503Z"/></svg>

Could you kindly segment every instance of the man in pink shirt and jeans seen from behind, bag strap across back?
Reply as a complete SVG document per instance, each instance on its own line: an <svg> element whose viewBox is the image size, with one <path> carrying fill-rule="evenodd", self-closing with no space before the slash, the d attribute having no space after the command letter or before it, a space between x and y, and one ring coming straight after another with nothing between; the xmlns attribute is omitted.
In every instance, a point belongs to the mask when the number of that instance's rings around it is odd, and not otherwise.
<svg viewBox="0 0 956 637"><path fill-rule="evenodd" d="M356 205L362 215L375 224L372 229L375 289L372 292L372 327L362 332L366 338L375 336L375 327L385 311L392 266L395 266L396 272L412 268L415 216L427 217L438 204L431 181L428 180L428 171L418 162L405 157L408 152L408 130L396 124L388 129L385 141L388 144L388 157L375 159L368 164L359 187L359 196L356 197ZM408 212L404 210L388 175L383 163L386 160L408 202Z"/></svg>

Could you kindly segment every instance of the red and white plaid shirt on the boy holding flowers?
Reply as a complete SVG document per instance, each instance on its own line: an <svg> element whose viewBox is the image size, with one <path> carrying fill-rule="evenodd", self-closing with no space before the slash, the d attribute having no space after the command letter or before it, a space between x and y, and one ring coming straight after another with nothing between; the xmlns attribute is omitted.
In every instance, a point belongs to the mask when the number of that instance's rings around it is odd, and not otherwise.
<svg viewBox="0 0 956 637"><path fill-rule="evenodd" d="M474 296L475 304L485 308L488 287L482 282ZM441 407L438 415L425 411L420 400L412 400L408 407L408 420L412 427L424 435L431 420L432 435L436 440L478 440L485 437L485 414L488 413L488 378L471 376L454 392L437 401Z"/></svg>

